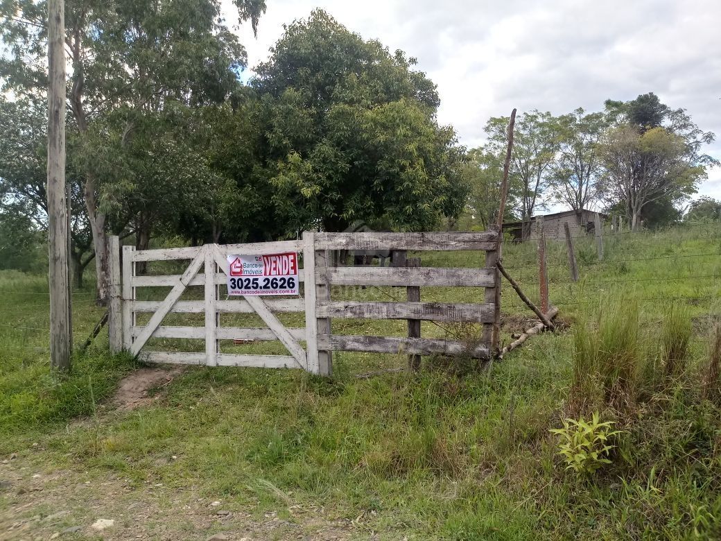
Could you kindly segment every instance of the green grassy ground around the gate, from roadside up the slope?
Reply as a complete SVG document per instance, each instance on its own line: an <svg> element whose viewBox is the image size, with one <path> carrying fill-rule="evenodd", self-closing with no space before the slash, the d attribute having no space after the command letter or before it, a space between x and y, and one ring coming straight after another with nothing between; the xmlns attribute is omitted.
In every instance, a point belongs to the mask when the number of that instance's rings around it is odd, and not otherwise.
<svg viewBox="0 0 721 541"><path fill-rule="evenodd" d="M70 376L53 376L46 278L2 272L0 539L48 539L73 526L80 529L63 539L719 539L721 409L704 394L704 374L709 336L721 322L720 233L721 224L708 224L609 236L600 263L593 239L576 239L578 283L568 279L565 243L549 242L551 301L567 327L531 338L491 371L424 359L420 374L358 379L406 362L365 353L336 353L332 379L195 367L132 411L109 398L136 361L109 356L101 334L76 355ZM481 261L471 253L423 258L428 266ZM535 258L534 243L503 248L505 267L534 298ZM334 295L388 299L404 291ZM422 298L470 302L482 292L422 289ZM74 294L76 346L104 312L92 299L90 290ZM593 335L588 323L599 314L605 319ZM507 286L503 315L506 343L533 318ZM303 326L302 315L284 322ZM580 333L587 327L590 334ZM654 367L665 366L686 329L681 369L664 379ZM401 335L404 322L336 321L333 330ZM450 333L477 329L423 325L424 336ZM621 335L632 340L621 343ZM283 352L278 343L224 347ZM582 378L590 385L582 389L578 370L592 358L594 366L632 363L627 400L616 400L620 387L596 400L593 390L606 387L593 378ZM592 411L622 434L610 464L576 474L549 430ZM98 518L115 526L94 532Z"/></svg>

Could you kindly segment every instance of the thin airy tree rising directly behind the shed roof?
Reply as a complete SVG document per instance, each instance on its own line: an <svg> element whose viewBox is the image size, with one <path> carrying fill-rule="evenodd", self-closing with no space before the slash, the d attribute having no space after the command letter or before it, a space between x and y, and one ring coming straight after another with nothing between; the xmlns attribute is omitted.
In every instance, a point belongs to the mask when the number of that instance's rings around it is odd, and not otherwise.
<svg viewBox="0 0 721 541"><path fill-rule="evenodd" d="M549 185L556 201L574 211L590 208L600 195L600 141L607 126L606 115L582 108L557 118L558 154Z"/></svg>

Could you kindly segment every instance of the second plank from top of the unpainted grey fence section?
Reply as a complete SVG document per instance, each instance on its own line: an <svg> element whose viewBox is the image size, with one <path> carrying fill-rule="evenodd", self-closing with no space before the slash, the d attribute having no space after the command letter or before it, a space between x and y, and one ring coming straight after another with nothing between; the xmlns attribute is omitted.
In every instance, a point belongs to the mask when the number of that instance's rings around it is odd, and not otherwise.
<svg viewBox="0 0 721 541"><path fill-rule="evenodd" d="M316 271L316 283L337 286L493 287L490 268L336 267Z"/></svg>

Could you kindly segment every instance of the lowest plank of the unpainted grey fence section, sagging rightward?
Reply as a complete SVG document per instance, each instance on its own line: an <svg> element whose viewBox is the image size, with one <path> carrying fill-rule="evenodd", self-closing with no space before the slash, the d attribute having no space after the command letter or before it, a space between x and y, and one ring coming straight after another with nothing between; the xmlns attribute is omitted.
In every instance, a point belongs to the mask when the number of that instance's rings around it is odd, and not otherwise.
<svg viewBox="0 0 721 541"><path fill-rule="evenodd" d="M332 351L367 353L468 355L474 359L488 359L490 355L487 346L484 345L472 346L459 340L403 336L318 335L318 347Z"/></svg>

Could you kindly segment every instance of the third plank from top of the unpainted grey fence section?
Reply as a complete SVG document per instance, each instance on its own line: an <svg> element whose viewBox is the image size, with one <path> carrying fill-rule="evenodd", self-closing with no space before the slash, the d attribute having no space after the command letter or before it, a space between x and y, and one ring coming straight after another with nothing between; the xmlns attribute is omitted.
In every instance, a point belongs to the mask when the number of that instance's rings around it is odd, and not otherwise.
<svg viewBox="0 0 721 541"><path fill-rule="evenodd" d="M443 302L319 301L319 317L492 323L494 304ZM328 334L328 333L325 333Z"/></svg>

